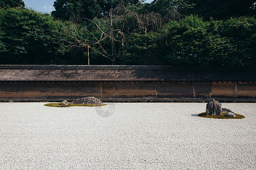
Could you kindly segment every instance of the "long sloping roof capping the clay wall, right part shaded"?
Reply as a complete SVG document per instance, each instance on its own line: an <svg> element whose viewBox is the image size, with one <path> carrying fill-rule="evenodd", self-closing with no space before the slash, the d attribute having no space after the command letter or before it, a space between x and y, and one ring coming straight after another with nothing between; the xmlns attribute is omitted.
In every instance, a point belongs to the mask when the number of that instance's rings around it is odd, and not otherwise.
<svg viewBox="0 0 256 170"><path fill-rule="evenodd" d="M168 66L0 65L0 81L255 81L255 70Z"/></svg>

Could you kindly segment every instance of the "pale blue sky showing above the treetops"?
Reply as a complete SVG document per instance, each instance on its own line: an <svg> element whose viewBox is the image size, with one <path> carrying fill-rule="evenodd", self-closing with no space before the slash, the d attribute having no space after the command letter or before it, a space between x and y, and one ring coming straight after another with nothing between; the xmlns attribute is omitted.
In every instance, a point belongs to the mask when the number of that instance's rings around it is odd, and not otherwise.
<svg viewBox="0 0 256 170"><path fill-rule="evenodd" d="M50 13L51 11L55 10L53 7L53 2L55 0L23 0L25 5L28 8L33 8L39 12L47 12ZM146 0L146 2L152 2L153 0Z"/></svg>

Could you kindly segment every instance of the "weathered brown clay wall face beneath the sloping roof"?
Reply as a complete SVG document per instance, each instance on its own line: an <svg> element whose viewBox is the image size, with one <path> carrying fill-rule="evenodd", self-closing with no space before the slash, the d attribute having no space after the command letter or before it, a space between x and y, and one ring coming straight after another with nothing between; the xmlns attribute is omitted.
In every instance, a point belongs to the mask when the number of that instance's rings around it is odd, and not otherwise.
<svg viewBox="0 0 256 170"><path fill-rule="evenodd" d="M1 82L1 101L61 101L95 96L103 101L255 102L255 82Z"/></svg>

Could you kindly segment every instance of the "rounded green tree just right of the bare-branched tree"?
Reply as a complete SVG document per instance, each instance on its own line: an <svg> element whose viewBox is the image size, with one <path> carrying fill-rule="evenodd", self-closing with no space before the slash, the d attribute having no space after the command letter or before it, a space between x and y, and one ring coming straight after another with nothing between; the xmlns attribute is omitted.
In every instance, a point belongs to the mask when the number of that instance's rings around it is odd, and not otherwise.
<svg viewBox="0 0 256 170"><path fill-rule="evenodd" d="M227 53L233 50L228 39L210 32L210 23L197 16L170 22L167 27L170 34L167 43L170 54L167 57L171 65L221 67L226 64Z"/></svg>

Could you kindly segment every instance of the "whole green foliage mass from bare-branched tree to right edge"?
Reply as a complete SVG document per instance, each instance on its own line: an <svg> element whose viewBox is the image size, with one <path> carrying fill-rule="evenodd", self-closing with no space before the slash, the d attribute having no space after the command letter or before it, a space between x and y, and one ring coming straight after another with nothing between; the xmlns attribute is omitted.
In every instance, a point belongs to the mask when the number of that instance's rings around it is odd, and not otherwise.
<svg viewBox="0 0 256 170"><path fill-rule="evenodd" d="M167 24L170 65L193 67L255 66L255 18L204 22L186 16Z"/></svg>

